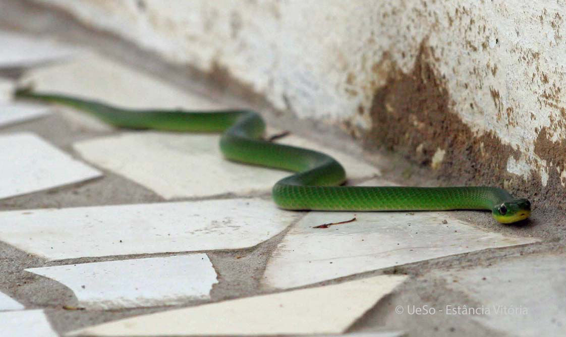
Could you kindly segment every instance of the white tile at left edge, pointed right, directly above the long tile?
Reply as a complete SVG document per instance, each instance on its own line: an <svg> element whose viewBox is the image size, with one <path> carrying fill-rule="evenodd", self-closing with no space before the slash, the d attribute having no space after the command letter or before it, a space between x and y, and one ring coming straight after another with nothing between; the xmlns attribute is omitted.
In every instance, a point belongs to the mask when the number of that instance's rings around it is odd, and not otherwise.
<svg viewBox="0 0 566 337"><path fill-rule="evenodd" d="M0 158L0 199L102 175L31 133L0 135Z"/></svg>

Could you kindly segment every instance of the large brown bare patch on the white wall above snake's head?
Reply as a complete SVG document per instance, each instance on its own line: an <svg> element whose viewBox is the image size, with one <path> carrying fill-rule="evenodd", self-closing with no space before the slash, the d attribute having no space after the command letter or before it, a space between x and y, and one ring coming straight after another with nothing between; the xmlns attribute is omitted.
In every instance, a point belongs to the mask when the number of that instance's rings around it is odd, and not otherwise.
<svg viewBox="0 0 566 337"><path fill-rule="evenodd" d="M388 84L376 90L366 146L385 147L422 165L430 165L440 148L446 151L434 170L440 184L499 186L537 202L543 190L539 173L532 170L530 178L524 180L507 172L509 156L518 160L521 152L503 144L494 133L475 134L462 122L451 110L449 93L428 61L430 53L423 43L413 70L405 74L394 66ZM499 92L490 91L500 112L503 105ZM513 114L512 110L505 112ZM548 191L545 189L545 193ZM554 191L559 193L558 189Z"/></svg>

